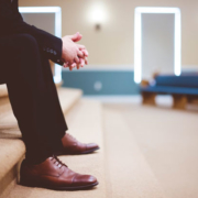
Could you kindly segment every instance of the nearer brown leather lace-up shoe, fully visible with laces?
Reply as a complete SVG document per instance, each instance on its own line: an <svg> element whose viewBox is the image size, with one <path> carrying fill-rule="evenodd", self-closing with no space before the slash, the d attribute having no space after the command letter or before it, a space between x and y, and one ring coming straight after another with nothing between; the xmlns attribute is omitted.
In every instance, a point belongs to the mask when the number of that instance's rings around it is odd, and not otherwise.
<svg viewBox="0 0 198 198"><path fill-rule="evenodd" d="M94 176L73 172L56 156L48 157L37 165L30 165L24 160L21 165L20 175L20 184L23 186L54 190L79 190L98 185Z"/></svg>

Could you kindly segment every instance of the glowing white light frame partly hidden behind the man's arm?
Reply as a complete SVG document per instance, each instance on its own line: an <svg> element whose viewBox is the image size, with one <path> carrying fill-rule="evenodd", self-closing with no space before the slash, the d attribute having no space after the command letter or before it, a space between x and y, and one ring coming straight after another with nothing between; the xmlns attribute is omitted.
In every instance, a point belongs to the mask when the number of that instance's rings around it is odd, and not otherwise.
<svg viewBox="0 0 198 198"><path fill-rule="evenodd" d="M61 7L19 7L21 13L55 13L55 36L62 37L62 8ZM54 82L62 82L62 67L55 64Z"/></svg>

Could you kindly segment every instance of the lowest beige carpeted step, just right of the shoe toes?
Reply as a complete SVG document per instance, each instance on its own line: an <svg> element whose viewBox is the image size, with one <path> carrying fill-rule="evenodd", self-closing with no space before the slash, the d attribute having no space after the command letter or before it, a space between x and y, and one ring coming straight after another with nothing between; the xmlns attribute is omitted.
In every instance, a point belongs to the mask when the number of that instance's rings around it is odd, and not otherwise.
<svg viewBox="0 0 198 198"><path fill-rule="evenodd" d="M164 198L123 117L113 109L103 111L108 198Z"/></svg>

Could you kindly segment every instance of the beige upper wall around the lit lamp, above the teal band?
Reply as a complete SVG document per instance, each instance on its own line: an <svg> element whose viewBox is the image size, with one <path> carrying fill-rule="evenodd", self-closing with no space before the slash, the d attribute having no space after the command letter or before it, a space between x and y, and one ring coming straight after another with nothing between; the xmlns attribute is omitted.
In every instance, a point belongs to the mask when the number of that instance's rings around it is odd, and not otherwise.
<svg viewBox="0 0 198 198"><path fill-rule="evenodd" d="M59 6L63 35L77 31L90 52L91 65L133 65L135 7L178 7L182 10L183 65L198 65L197 0L19 0L20 6ZM108 20L97 32L89 21L92 4L102 2ZM195 65L195 66L191 66Z"/></svg>

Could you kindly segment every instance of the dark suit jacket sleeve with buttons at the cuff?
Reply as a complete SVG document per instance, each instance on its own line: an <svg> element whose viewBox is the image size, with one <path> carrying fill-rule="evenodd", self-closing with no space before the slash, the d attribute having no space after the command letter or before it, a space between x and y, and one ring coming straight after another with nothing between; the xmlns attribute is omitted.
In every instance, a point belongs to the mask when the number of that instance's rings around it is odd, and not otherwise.
<svg viewBox="0 0 198 198"><path fill-rule="evenodd" d="M64 64L62 62L62 38L25 23L18 11L18 6L11 7L9 0L0 0L0 31L6 34L26 33L34 36L48 59L59 65Z"/></svg>

